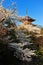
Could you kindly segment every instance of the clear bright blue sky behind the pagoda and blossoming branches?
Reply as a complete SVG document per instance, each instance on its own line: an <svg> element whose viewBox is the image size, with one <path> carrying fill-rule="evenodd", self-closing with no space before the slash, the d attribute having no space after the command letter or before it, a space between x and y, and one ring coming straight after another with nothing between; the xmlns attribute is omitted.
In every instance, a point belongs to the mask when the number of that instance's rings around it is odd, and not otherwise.
<svg viewBox="0 0 43 65"><path fill-rule="evenodd" d="M34 23L43 26L43 0L5 0L3 6L8 8L12 1L16 2L18 15L25 16L28 8L28 15L36 19Z"/></svg>

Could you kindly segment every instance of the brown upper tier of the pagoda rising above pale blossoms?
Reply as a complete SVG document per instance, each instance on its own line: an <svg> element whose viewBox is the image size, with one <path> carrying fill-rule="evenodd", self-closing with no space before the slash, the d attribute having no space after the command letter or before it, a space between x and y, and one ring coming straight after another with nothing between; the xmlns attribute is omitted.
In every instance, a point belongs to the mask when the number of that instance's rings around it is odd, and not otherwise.
<svg viewBox="0 0 43 65"><path fill-rule="evenodd" d="M26 16L19 17L19 21L27 25L27 24L32 24L32 22L35 21L35 19L29 17L28 11L26 11Z"/></svg>

